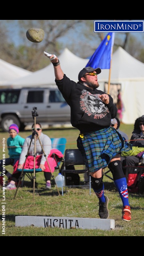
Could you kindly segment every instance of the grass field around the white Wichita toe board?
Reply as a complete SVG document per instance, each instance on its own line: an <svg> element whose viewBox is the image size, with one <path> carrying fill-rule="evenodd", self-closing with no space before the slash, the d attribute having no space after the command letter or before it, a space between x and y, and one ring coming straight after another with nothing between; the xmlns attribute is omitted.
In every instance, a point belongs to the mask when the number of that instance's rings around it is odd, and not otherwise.
<svg viewBox="0 0 144 256"><path fill-rule="evenodd" d="M132 134L133 125L121 124L120 130ZM43 130L50 138L65 137L67 148L77 148L76 139L78 130L74 128L59 128ZM26 138L31 131L20 132L19 135ZM7 140L9 134L0 132L0 158L2 158L2 140ZM6 149L6 157L8 151ZM6 168L12 173L12 166ZM54 177L58 174L54 172ZM64 196L58 195L58 191L52 180L52 189L45 190L45 180L42 173L36 174L38 187L33 189L28 178L24 186L19 187L16 198L15 190L6 190L6 232L2 234L2 210L0 213L0 236L144 236L144 196L140 194L129 194L129 201L132 211L131 222L124 222L122 217L122 202L114 186L114 182L104 176L105 194L109 198L109 218L115 220L114 230L82 230L82 229L60 229L60 228L38 228L34 226L16 227L15 216L63 216L77 218L99 218L98 199L93 190L91 195L88 189L68 188ZM80 174L80 181L83 182L83 174ZM2 188L0 200L2 202ZM35 192L35 193L34 193Z"/></svg>

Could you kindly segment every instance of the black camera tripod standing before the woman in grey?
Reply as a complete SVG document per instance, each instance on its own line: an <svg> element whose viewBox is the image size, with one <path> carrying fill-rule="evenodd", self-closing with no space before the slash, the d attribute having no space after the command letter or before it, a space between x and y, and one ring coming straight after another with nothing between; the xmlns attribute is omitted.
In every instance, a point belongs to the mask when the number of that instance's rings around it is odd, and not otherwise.
<svg viewBox="0 0 144 256"><path fill-rule="evenodd" d="M31 144L32 144L32 139L34 138L34 175L33 175L33 199L34 199L35 181L36 181L36 135L37 135L37 137L38 137L39 142L40 142L40 138L39 138L39 136L38 136L38 133L36 132L36 116L38 116L38 114L37 114L37 112L36 112L37 108L36 108L36 107L33 107L33 110L34 110L34 111L32 111L32 116L33 116L33 118L34 118L34 132L32 133L32 138L31 138L31 141L30 141L30 146L31 146ZM26 158L28 157L28 153L29 153L29 150L30 150L30 146L28 147L28 152L27 152L27 154L26 154ZM47 157L46 157L46 154L45 154L45 152L44 152L44 148L43 148L41 142L40 142L40 146L42 147L42 152L43 152L43 154L44 154L44 156L45 156L45 158L46 158L46 162L47 162L48 167L49 167L49 169L50 169L50 172L51 172L51 174L52 174L52 170L51 170L50 165L49 165L49 163L48 163L48 159L47 159ZM24 166L25 166L25 163L26 163L26 159L25 159L25 161L24 161ZM17 191L18 191L18 187L19 187L20 182L21 182L22 177L23 177L24 166L23 166L22 172L21 172L21 174L20 174L20 178L19 178L19 181L18 181L18 186L17 186L17 188L16 188L16 193L17 193ZM52 175L52 178L54 179L54 175ZM55 179L54 179L54 183L55 183L55 185L56 185ZM57 188L57 190L58 190L58 186L57 186L57 185L56 185L56 188ZM15 193L15 195L14 195L14 199L15 199L15 197L16 197L16 193ZM58 190L58 194L59 194L59 196L60 196L59 190Z"/></svg>

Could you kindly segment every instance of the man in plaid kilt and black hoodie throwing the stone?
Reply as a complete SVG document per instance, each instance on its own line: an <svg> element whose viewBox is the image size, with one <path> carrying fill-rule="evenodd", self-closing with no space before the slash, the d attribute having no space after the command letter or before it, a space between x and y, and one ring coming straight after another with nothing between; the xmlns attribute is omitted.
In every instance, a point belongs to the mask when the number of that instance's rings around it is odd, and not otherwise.
<svg viewBox="0 0 144 256"><path fill-rule="evenodd" d="M120 133L111 126L117 108L109 94L98 90L100 68L85 67L78 74L78 82L70 80L60 67L54 54L44 54L54 66L55 82L71 109L71 124L80 134L77 147L84 157L98 199L98 215L107 219L108 197L104 194L103 168L108 166L122 200L122 220L131 220L126 178L122 171L120 152L130 150ZM89 105L90 104L90 105Z"/></svg>

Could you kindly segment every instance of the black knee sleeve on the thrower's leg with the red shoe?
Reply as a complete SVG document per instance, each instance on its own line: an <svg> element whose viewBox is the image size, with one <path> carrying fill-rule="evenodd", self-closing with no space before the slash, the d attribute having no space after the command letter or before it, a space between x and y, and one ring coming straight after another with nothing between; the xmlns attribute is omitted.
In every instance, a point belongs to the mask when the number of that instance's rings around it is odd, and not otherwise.
<svg viewBox="0 0 144 256"><path fill-rule="evenodd" d="M108 168L112 172L112 176L114 180L125 178L120 160L111 162L110 164L108 164Z"/></svg>

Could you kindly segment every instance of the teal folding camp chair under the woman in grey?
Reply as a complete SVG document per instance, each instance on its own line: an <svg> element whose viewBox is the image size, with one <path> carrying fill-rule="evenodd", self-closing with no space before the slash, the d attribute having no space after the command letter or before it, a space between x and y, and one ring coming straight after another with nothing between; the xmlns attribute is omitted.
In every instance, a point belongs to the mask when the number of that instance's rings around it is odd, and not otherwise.
<svg viewBox="0 0 144 256"><path fill-rule="evenodd" d="M64 154L64 150L66 147L66 138L51 138L51 141L52 141L52 149L56 148L56 149L60 150L60 152L62 152L62 154ZM55 170L59 170L59 172L60 172L60 164L61 164L61 162L63 162L63 158L61 158L61 160L58 161L56 154L52 154L52 156L54 157L54 159L56 160L56 163L57 163ZM22 172L22 169L17 169L17 170L18 170L18 172ZM42 170L40 168L35 169L35 173L37 173L37 172L42 172ZM33 184L33 180L34 180L33 174L34 174L34 169L24 169L23 174L22 174L21 186L23 186L23 184L24 184L25 175L29 178L29 180Z"/></svg>

